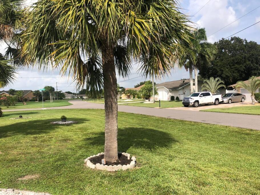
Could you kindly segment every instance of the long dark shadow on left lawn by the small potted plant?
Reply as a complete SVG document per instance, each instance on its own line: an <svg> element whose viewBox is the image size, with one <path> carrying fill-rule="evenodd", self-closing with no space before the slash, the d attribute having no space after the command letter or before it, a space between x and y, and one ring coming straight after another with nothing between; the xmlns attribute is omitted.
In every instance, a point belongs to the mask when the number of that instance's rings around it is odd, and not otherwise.
<svg viewBox="0 0 260 195"><path fill-rule="evenodd" d="M30 119L13 119L14 123L0 128L0 138L11 137L16 135L36 135L49 133L61 126L72 126L86 121L85 118L69 118L72 121L77 121L74 124L51 124L51 122L60 121L60 118L51 118L45 120L31 120ZM26 120L26 121L23 121Z"/></svg>

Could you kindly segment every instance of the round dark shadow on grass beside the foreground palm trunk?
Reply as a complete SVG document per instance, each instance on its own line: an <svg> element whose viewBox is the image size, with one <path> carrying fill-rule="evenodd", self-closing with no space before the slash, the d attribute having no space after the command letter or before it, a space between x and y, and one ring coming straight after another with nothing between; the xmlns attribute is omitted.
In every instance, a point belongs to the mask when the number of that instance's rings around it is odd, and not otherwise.
<svg viewBox="0 0 260 195"><path fill-rule="evenodd" d="M104 145L105 133L98 132L86 138L90 145ZM178 142L169 133L152 128L126 127L118 129L118 151L127 151L129 148L156 150L167 148Z"/></svg>

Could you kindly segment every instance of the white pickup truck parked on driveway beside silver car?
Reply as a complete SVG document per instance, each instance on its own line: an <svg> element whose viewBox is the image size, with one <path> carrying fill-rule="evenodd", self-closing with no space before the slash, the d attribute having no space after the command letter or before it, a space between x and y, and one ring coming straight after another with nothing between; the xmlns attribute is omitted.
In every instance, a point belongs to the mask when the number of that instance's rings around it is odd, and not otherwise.
<svg viewBox="0 0 260 195"><path fill-rule="evenodd" d="M214 105L218 105L219 102L221 101L222 101L221 95L212 95L210 92L198 92L183 98L182 104L185 107L189 107L190 105L193 105L194 107L198 107L199 104L214 103Z"/></svg>

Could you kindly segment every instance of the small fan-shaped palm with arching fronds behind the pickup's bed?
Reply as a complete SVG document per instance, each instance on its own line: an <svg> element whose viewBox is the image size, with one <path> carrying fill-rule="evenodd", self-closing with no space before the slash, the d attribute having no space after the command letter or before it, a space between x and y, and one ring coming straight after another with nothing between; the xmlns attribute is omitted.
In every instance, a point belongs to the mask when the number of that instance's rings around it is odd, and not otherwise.
<svg viewBox="0 0 260 195"><path fill-rule="evenodd" d="M218 77L215 79L210 77L209 79L205 79L203 82L204 84L201 86L201 90L210 91L212 94L215 94L220 87L226 87L224 81Z"/></svg>

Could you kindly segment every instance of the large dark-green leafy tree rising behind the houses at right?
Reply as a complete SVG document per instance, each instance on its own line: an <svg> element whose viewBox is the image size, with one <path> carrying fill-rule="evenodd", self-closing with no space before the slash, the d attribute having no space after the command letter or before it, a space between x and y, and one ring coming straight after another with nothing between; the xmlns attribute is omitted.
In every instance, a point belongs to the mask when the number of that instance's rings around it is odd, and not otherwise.
<svg viewBox="0 0 260 195"><path fill-rule="evenodd" d="M260 45L239 37L215 42L217 54L210 64L199 65L199 75L208 79L219 77L225 85L260 76Z"/></svg>

